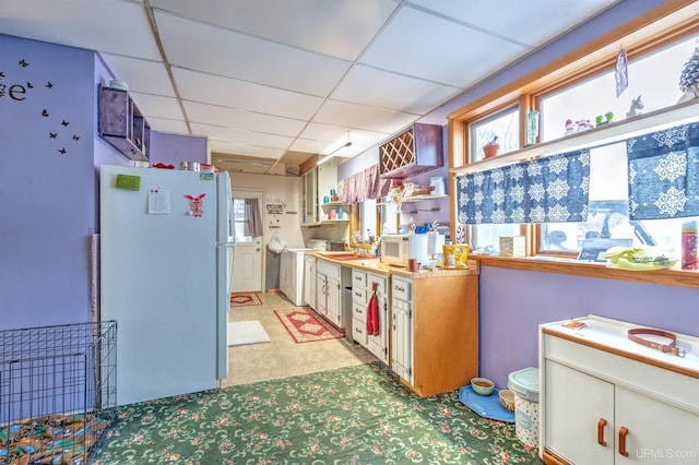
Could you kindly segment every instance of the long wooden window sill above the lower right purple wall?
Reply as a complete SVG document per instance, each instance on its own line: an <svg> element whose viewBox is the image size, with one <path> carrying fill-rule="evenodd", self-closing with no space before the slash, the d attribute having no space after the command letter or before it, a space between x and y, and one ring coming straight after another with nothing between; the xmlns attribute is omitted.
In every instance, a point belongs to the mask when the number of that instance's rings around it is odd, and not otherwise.
<svg viewBox="0 0 699 465"><path fill-rule="evenodd" d="M638 272L608 269L603 263L543 257L512 259L508 257L470 255L470 258L477 259L482 266L699 288L699 272L694 271L654 270Z"/></svg>

